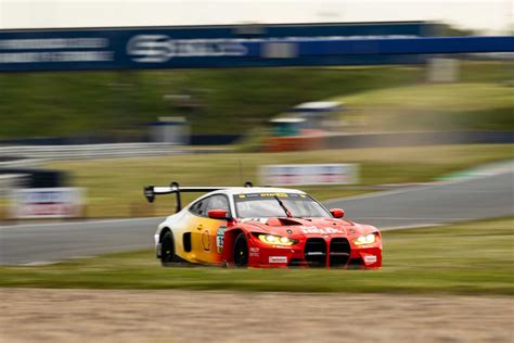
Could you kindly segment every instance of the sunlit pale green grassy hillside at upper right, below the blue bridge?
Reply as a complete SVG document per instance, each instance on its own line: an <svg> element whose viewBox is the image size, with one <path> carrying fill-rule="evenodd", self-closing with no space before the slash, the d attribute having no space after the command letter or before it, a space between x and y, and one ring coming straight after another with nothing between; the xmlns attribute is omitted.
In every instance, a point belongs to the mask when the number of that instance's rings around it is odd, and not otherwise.
<svg viewBox="0 0 514 343"><path fill-rule="evenodd" d="M338 97L356 130L514 130L512 87L498 82L426 84ZM348 130L348 128L347 128Z"/></svg>

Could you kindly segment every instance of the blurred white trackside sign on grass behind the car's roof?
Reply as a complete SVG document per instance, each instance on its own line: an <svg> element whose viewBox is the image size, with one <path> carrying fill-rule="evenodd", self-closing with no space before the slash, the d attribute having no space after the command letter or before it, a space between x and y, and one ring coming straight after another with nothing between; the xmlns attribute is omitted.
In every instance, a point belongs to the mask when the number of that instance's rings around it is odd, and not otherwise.
<svg viewBox="0 0 514 343"><path fill-rule="evenodd" d="M356 185L358 164L278 164L260 167L260 182L266 186Z"/></svg>

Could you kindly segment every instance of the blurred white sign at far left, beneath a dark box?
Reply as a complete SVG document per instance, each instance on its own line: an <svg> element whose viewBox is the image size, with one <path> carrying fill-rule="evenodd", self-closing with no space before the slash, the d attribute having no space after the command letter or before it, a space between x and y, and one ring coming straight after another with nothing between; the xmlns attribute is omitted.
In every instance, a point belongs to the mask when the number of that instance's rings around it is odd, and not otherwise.
<svg viewBox="0 0 514 343"><path fill-rule="evenodd" d="M11 217L16 219L73 218L82 215L83 189L29 188L11 193Z"/></svg>

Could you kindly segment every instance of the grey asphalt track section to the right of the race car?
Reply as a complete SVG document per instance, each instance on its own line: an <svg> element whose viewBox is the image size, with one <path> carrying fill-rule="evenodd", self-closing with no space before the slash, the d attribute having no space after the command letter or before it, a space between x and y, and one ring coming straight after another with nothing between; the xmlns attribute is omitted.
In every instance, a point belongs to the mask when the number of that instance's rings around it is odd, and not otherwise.
<svg viewBox="0 0 514 343"><path fill-rule="evenodd" d="M514 214L514 164L494 174L326 203L383 229L435 226Z"/></svg>

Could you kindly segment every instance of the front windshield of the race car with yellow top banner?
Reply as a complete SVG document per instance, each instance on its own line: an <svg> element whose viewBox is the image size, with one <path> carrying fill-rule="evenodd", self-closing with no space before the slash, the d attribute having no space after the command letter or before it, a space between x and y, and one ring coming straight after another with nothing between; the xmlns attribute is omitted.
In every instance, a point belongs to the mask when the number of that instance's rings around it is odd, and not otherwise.
<svg viewBox="0 0 514 343"><path fill-rule="evenodd" d="M237 217L286 217L287 214L275 196L282 201L293 217L332 217L316 200L307 194L296 193L249 193L234 195Z"/></svg>

